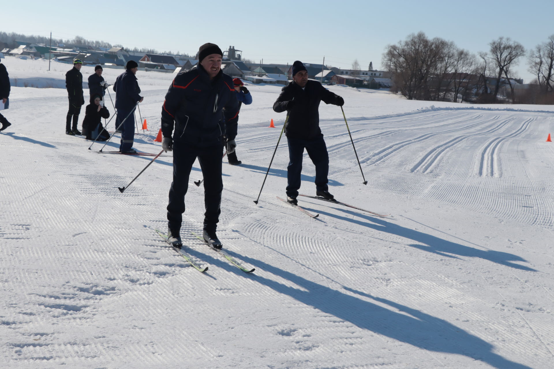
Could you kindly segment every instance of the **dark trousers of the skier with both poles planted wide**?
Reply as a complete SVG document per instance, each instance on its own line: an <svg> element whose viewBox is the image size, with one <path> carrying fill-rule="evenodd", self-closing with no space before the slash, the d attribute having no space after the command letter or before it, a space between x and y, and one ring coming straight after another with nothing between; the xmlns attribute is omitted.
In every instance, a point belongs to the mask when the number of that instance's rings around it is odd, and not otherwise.
<svg viewBox="0 0 554 369"><path fill-rule="evenodd" d="M289 142L289 166L287 169L287 196L298 196L302 175L302 155L306 149L315 165L315 185L319 191L329 190L327 175L329 175L329 154L323 135L315 139L287 137Z"/></svg>

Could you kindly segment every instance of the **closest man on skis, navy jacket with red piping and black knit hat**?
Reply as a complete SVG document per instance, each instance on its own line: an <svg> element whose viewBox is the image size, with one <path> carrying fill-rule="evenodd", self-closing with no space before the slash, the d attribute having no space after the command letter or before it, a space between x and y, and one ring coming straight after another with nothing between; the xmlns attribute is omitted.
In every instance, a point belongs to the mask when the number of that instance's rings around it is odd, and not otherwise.
<svg viewBox="0 0 554 369"><path fill-rule="evenodd" d="M173 246L181 245L184 195L192 164L198 158L204 175L206 206L203 237L209 245L222 247L216 228L223 191L223 135L229 141L237 136L239 110L233 79L221 70L222 58L217 45L200 46L197 66L179 72L163 102L162 148L173 150L173 182L167 205L168 242ZM234 147L229 144L227 150L233 152Z"/></svg>

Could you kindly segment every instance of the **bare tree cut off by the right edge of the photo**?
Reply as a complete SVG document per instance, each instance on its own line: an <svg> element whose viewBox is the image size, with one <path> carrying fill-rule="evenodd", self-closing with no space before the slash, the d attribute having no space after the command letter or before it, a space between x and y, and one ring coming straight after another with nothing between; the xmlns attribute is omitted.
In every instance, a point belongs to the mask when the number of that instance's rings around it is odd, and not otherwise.
<svg viewBox="0 0 554 369"><path fill-rule="evenodd" d="M554 34L529 52L529 71L537 76L542 93L554 92Z"/></svg>

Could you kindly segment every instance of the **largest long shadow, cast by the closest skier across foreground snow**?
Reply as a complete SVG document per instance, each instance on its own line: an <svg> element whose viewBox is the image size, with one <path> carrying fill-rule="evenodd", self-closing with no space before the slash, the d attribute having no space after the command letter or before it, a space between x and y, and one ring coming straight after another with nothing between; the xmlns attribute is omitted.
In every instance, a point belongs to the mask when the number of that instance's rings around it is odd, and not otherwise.
<svg viewBox="0 0 554 369"><path fill-rule="evenodd" d="M348 295L257 259L235 254L238 258L252 264L257 269L260 268L265 272L275 274L275 276L288 279L290 282L306 289L306 291L260 276L252 280L266 285L276 292L289 295L297 301L313 306L324 313L349 321L361 329L367 329L377 334L391 337L394 340L406 342L420 349L468 356L474 360L484 361L498 369L531 369L526 365L494 354L492 352L494 349L492 344L469 334L446 320L387 299L373 297L372 295L342 286L348 292L361 295L365 299ZM409 314L410 316L386 309L371 303L367 299L387 304L391 308L402 311L402 313Z"/></svg>

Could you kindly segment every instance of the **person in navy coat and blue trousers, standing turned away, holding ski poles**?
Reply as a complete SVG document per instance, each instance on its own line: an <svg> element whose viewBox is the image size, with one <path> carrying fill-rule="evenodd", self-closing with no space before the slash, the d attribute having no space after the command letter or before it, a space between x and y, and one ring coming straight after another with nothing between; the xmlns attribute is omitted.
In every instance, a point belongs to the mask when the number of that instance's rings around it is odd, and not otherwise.
<svg viewBox="0 0 554 369"><path fill-rule="evenodd" d="M133 148L135 138L135 119L133 112L137 103L142 102L144 98L139 95L140 87L135 76L139 70L139 64L134 60L127 61L126 70L119 76L114 83L116 127L121 131L120 152L124 154L134 154Z"/></svg>

